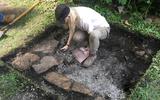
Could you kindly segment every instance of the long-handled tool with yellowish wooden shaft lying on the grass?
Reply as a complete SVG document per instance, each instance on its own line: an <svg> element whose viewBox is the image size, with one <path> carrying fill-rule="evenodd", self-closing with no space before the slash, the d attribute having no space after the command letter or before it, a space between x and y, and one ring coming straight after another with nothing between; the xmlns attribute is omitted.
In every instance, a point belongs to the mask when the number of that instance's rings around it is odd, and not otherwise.
<svg viewBox="0 0 160 100"><path fill-rule="evenodd" d="M28 12L30 12L32 9L34 9L35 6L37 6L39 3L41 3L41 0L39 0L37 3L35 3L34 5L32 5L28 10L26 10L25 12L23 12L22 14L20 14L17 18L15 18L11 23L9 23L8 25L2 27L0 29L0 38L5 35L5 33L10 29L10 27L17 22L19 19L21 19L22 17L24 17Z"/></svg>

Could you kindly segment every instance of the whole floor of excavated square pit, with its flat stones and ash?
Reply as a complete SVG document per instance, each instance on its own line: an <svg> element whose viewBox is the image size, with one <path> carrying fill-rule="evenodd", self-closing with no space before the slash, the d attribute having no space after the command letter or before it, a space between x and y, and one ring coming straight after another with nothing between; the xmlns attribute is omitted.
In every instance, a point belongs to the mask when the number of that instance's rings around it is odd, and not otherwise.
<svg viewBox="0 0 160 100"><path fill-rule="evenodd" d="M26 52L9 59L10 63L18 70L26 70L33 79L36 75L40 83L45 80L62 90L113 100L126 98L126 92L145 73L160 48L158 40L112 26L110 38L101 41L97 60L92 67L84 68L72 55L74 45L65 53L60 51L67 38L62 35L65 33L59 30L50 33Z"/></svg>

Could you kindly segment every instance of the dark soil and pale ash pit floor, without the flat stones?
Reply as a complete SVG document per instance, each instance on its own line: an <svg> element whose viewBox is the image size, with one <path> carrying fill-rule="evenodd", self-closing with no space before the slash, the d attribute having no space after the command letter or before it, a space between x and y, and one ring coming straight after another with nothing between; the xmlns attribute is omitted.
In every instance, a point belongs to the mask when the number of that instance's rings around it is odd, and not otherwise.
<svg viewBox="0 0 160 100"><path fill-rule="evenodd" d="M41 48L44 45L47 47L52 40L56 39L59 43L54 51L46 53L42 49L40 50L42 52L34 52L40 58L56 56L63 59L63 63L50 68L47 72L54 71L66 75L76 82L85 84L95 95L113 100L125 98L126 91L133 87L145 73L151 64L152 57L160 49L160 41L156 39L112 26L110 38L101 41L98 58L90 68L84 68L72 56L71 51L76 48L75 45L72 45L67 52L60 51L67 38L65 32L58 30L50 32L49 36L36 42L38 44L45 40L39 47L34 44L25 52L21 51L20 54L32 52L33 49ZM17 54L19 55L19 53ZM8 61L12 60L9 58ZM47 72L38 75L33 68L25 71L33 79L38 80L39 78L41 82L43 82L42 76Z"/></svg>

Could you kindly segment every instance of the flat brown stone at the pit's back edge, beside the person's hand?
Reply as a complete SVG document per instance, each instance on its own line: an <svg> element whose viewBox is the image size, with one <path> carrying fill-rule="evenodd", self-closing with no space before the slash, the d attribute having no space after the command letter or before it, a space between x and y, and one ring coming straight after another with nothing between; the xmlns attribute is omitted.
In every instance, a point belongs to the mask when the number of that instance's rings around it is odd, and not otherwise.
<svg viewBox="0 0 160 100"><path fill-rule="evenodd" d="M55 39L46 39L41 43L37 44L32 51L42 53L53 53L58 45L58 41Z"/></svg>

